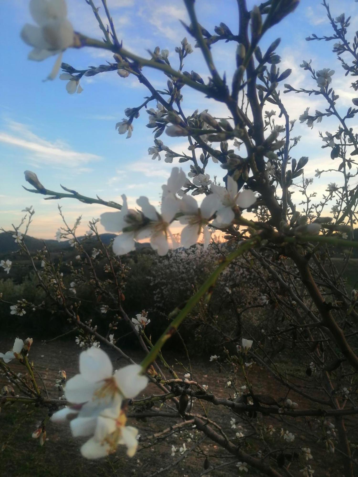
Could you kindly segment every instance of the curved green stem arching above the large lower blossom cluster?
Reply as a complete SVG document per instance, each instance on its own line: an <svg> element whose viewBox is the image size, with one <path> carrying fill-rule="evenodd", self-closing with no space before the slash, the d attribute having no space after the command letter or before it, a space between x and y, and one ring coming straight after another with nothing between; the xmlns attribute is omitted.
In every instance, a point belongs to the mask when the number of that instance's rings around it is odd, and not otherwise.
<svg viewBox="0 0 358 477"><path fill-rule="evenodd" d="M215 285L216 280L219 275L225 268L232 262L232 260L240 257L244 252L248 251L261 241L261 237L256 236L253 239L246 240L237 250L234 250L230 253L225 259L221 261L219 266L214 270L210 277L204 281L200 289L193 295L185 304L184 308L179 311L174 320L169 324L165 332L160 336L158 341L154 344L151 351L147 354L144 360L141 363L142 372L145 373L148 366L155 360L158 353L160 352L164 343L178 330L179 325L184 320L184 318L190 313L194 306L199 302L208 291L211 292L211 288ZM174 310L171 314L178 312L178 308Z"/></svg>

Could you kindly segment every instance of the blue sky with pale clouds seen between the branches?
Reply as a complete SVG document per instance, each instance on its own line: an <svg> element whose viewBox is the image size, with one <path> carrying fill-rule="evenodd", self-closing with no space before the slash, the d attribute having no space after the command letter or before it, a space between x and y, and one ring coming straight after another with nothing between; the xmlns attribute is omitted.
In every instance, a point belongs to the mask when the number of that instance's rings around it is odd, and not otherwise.
<svg viewBox="0 0 358 477"><path fill-rule="evenodd" d="M187 14L180 0L107 0L112 12L118 37L124 46L137 54L147 57L146 49L154 50L158 45L169 50L169 60L175 67L177 59L174 48L184 37L192 44L194 41L184 31L179 19L187 21ZM248 1L249 6L255 2ZM97 0L98 6L100 1ZM351 31L358 29L358 4L352 0L329 2L334 16L346 11L352 15ZM68 0L68 16L74 29L95 38L101 38L91 8L84 0ZM220 21L225 22L233 32L237 31L237 7L235 0L197 0L198 18L209 31ZM0 185L0 227L11 228L20 221L21 209L33 205L36 214L30 234L36 237L53 238L61 219L57 214L57 201L46 201L40 195L32 195L22 189L26 185L23 171L30 169L39 176L42 184L52 190L60 190L60 183L74 188L88 196L98 194L105 200L120 201L125 193L129 202L146 195L156 205L159 201L161 184L166 182L171 169L170 164L152 161L147 154L153 145L152 130L145 127L147 114L143 111L134 122L130 139L118 135L115 124L124 117L126 107L137 106L143 102L147 90L136 78L120 78L115 72L98 74L84 78L81 85L83 93L70 95L65 90L66 82L59 79L42 82L51 71L54 58L43 62L27 60L30 48L19 36L25 22L32 22L28 12L28 0L2 0L2 61L0 75L0 161L2 181ZM103 13L102 10L99 10ZM274 31L269 31L262 43L262 49L274 39L281 37L277 52L282 56L282 71L292 68L293 73L287 82L300 86L309 79L299 64L303 59L312 59L314 67L330 67L336 70L333 86L340 95L343 110L351 105L354 91L349 78L345 79L339 68L330 44L326 42L306 42L305 37L316 34L330 34L325 12L319 0L301 0L297 10L280 23ZM218 70L232 75L235 46L231 43L217 43L212 47ZM111 61L111 54L105 51L69 49L63 61L81 69L89 65L97 66ZM185 70L192 69L207 79L207 70L200 57L200 51L185 60ZM145 73L156 88L166 84L158 72L146 69ZM183 110L190 114L209 108L213 115L227 115L220 104L208 102L198 92L183 89ZM307 106L321 109L324 106L316 98L303 95L285 95L285 104L291 119L298 119ZM155 107L155 104L151 104ZM272 109L267 104L266 109ZM298 122L298 121L297 121ZM280 122L278 121L280 124ZM295 150L295 157L309 156L307 176L314 176L317 167L331 166L327 149L321 149L318 131L335 130L335 121L324 120L311 130L296 123L295 134L302 135ZM183 138L173 139L163 135L166 145L180 152L186 148ZM184 165L186 166L186 165ZM189 167L189 166L188 166ZM208 172L221 177L222 169L211 166ZM315 178L314 190L322 193L334 175ZM69 222L82 214L85 231L86 221L98 217L105 209L101 206L80 204L74 200L60 201Z"/></svg>

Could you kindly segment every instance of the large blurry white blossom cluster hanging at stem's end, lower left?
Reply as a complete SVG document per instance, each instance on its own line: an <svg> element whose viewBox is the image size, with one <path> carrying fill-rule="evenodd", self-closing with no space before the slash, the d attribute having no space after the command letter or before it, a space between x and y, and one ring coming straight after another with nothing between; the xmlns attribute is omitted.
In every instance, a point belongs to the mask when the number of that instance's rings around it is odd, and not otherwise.
<svg viewBox="0 0 358 477"><path fill-rule="evenodd" d="M70 421L74 437L90 436L81 447L81 454L88 459L114 453L118 445L125 445L127 455L134 456L138 431L126 425L125 400L136 397L147 382L137 364L113 373L108 355L91 347L80 354L80 373L64 388L65 398L72 405L57 411L52 420Z"/></svg>

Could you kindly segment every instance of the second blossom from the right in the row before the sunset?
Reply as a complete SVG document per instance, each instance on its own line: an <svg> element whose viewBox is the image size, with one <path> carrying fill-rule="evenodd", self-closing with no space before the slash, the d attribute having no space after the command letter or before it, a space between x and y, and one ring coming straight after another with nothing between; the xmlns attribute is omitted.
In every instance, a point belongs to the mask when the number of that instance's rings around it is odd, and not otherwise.
<svg viewBox="0 0 358 477"><path fill-rule="evenodd" d="M187 224L180 235L180 243L188 249L197 242L200 233L204 237L204 249L210 243L210 231L207 227L211 217L218 207L218 200L214 194L206 196L201 202L200 208L194 197L184 196L180 201L180 210L184 214L179 218L181 224Z"/></svg>

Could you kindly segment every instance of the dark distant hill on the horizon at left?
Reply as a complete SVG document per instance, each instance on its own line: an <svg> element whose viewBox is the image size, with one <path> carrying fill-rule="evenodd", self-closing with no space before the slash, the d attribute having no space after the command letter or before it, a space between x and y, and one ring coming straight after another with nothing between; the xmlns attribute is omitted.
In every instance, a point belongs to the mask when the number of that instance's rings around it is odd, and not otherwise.
<svg viewBox="0 0 358 477"><path fill-rule="evenodd" d="M105 245L109 245L110 241L116 237L116 234L100 234L100 238ZM87 244L91 247L95 246L97 240L92 238L89 240L87 237L78 237L79 240L87 239ZM50 250L50 252L60 252L71 250L71 246L68 240L63 240L58 242L57 240L52 239L35 239L34 237L27 236L24 239L24 243L30 252L36 252L37 250L42 250L44 245ZM86 245L87 245L86 244ZM148 243L137 243L136 249L141 250L149 247ZM12 252L16 252L19 249L18 244L15 242L11 233L2 232L0 233L0 256Z"/></svg>

